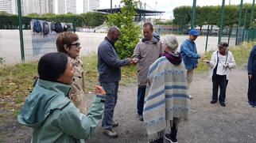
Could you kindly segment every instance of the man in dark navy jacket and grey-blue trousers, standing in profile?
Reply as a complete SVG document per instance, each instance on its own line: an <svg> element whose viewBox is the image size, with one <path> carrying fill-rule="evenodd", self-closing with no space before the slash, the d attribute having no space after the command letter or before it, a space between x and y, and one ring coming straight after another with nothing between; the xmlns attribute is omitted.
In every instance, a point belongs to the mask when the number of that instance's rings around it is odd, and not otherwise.
<svg viewBox="0 0 256 143"><path fill-rule="evenodd" d="M121 67L134 63L132 58L118 59L114 43L120 35L121 32L117 27L111 27L107 32L107 37L98 47L99 83L107 93L103 116L103 133L113 138L118 137L112 127L118 126L117 122L113 122L113 116L114 107L118 100L118 81L121 80Z"/></svg>

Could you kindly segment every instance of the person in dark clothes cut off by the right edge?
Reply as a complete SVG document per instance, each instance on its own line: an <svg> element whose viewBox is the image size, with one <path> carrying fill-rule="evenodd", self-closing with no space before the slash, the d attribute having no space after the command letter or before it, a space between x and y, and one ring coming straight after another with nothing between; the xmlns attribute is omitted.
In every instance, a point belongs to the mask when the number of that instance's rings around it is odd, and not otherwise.
<svg viewBox="0 0 256 143"><path fill-rule="evenodd" d="M248 59L248 104L250 107L256 106L256 45L250 51L250 56Z"/></svg>

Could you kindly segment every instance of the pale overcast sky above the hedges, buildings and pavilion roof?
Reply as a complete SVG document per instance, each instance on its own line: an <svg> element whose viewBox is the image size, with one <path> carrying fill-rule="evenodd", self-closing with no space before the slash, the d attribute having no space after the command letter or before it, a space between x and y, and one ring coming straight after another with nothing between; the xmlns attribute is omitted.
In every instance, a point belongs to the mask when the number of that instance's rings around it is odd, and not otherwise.
<svg viewBox="0 0 256 143"><path fill-rule="evenodd" d="M253 3L254 0L242 0L242 3ZM112 0L112 7L119 5L121 0ZM153 9L159 11L165 11L161 16L161 19L170 19L173 18L173 9L179 6L193 6L193 0L141 0L142 3L146 3L146 9ZM156 3L157 2L157 3ZM223 0L196 0L196 6L221 6ZM241 0L225 0L225 5L239 5ZM82 0L77 0L77 8L83 9ZM111 8L111 0L99 0L99 8L107 9ZM82 10L80 10L82 11Z"/></svg>

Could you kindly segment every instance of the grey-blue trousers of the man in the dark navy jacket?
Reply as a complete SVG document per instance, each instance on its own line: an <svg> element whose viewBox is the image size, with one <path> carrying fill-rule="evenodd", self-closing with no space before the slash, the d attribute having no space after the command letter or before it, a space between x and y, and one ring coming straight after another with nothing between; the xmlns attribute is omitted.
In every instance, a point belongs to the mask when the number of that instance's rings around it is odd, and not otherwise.
<svg viewBox="0 0 256 143"><path fill-rule="evenodd" d="M116 82L102 82L100 85L107 93L105 97L105 109L103 115L103 128L112 129L112 122L114 117L114 107L118 100L118 81Z"/></svg>

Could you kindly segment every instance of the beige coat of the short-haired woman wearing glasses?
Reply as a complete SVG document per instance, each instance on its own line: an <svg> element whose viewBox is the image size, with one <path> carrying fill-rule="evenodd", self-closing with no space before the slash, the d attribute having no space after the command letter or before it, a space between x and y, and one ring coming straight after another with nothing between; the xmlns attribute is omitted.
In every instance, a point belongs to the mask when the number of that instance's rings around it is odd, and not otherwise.
<svg viewBox="0 0 256 143"><path fill-rule="evenodd" d="M80 113L87 115L83 63L80 58L68 57L68 60L72 63L72 67L75 70L72 88L69 91L69 99L80 110Z"/></svg>

